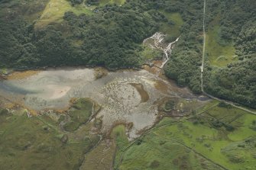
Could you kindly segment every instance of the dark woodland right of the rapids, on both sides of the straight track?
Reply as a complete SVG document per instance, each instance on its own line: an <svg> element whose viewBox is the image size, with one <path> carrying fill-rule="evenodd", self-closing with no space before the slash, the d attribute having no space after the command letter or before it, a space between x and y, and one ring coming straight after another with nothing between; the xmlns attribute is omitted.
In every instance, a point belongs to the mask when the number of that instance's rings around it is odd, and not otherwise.
<svg viewBox="0 0 256 170"><path fill-rule="evenodd" d="M185 1L190 2L190 1ZM192 2L192 1L191 1ZM173 49L170 62L164 68L170 79L177 80L181 86L188 85L194 92L200 93L200 69L203 37L202 10L203 1L189 14L186 9L195 2L173 2L173 11L180 10L186 24L181 28L182 37ZM206 60L204 70L204 89L211 95L235 101L249 107L256 107L256 4L254 1L206 1L207 26L219 14L219 44L235 44L238 61L224 68L211 66ZM195 6L193 6L195 7ZM197 10L196 10L197 9ZM185 14L184 14L185 12ZM189 16L189 17L188 17ZM207 53L206 53L207 57Z"/></svg>

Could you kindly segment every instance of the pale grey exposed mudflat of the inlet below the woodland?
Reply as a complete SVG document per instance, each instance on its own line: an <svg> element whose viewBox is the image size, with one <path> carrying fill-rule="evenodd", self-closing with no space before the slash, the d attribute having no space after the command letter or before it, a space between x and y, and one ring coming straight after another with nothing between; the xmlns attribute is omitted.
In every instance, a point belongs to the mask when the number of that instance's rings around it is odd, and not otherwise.
<svg viewBox="0 0 256 170"><path fill-rule="evenodd" d="M0 94L36 111L68 107L70 98L92 98L102 106L97 117L102 117L103 130L133 123L130 138L154 124L160 99L197 98L146 70L109 72L96 79L95 69L48 69L0 82Z"/></svg>

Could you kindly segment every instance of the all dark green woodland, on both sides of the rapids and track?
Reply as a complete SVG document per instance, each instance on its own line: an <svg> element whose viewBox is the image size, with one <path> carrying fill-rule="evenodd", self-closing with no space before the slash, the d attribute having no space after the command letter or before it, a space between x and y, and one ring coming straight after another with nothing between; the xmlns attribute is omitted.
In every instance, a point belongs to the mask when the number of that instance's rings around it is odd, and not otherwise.
<svg viewBox="0 0 256 170"><path fill-rule="evenodd" d="M40 3L37 3L40 2ZM70 0L99 5L93 14L66 11L63 21L35 29L44 1L0 1L0 67L28 69L44 66L105 66L108 69L139 68L142 41L175 24L164 13L178 12L184 24L180 40L164 68L170 79L200 93L203 51L203 1L128 0L124 5L100 6L99 0ZM217 14L219 43L233 42L238 61L226 67L207 63L204 88L211 95L256 107L256 4L254 0L207 1L206 31ZM33 6L33 8L31 8ZM171 35L169 35L171 37ZM171 37L174 39L176 37ZM206 54L207 57L207 54Z"/></svg>

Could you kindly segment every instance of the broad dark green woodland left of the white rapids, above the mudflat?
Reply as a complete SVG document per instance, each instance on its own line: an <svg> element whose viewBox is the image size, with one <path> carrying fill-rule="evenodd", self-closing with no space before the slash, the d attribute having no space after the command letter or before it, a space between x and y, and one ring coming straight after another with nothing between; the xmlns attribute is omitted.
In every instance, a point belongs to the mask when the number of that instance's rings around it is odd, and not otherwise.
<svg viewBox="0 0 256 170"><path fill-rule="evenodd" d="M92 15L66 11L62 23L51 23L42 30L35 30L35 23L22 15L3 13L1 66L139 67L141 43L157 31L155 19L141 12L140 5L147 6L145 11L151 9L146 2L134 1L123 7L106 5Z"/></svg>

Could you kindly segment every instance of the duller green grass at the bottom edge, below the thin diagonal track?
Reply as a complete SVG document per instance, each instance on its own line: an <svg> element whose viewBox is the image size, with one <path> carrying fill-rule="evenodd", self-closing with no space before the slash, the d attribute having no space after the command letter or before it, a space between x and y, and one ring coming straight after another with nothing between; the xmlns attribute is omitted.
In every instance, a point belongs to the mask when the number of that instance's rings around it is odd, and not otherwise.
<svg viewBox="0 0 256 170"><path fill-rule="evenodd" d="M125 152L119 169L219 169L186 146L150 133Z"/></svg>

